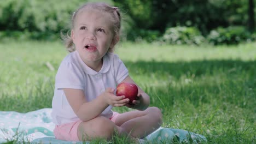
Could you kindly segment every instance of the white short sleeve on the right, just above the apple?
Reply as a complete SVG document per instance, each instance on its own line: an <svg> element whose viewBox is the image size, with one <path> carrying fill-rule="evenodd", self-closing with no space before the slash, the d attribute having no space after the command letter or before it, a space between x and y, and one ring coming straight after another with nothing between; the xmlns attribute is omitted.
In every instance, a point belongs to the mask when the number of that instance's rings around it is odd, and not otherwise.
<svg viewBox="0 0 256 144"><path fill-rule="evenodd" d="M123 63L123 61L121 61L121 59L117 55L114 55L113 61L114 61L115 81L117 83L120 83L129 75L128 69L125 67L125 64Z"/></svg>

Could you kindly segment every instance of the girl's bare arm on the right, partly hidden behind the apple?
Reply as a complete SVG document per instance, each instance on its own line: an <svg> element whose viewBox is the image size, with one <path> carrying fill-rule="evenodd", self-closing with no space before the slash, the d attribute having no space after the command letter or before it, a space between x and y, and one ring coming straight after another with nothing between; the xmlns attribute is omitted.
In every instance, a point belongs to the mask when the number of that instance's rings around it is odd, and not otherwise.
<svg viewBox="0 0 256 144"><path fill-rule="evenodd" d="M130 76L127 76L122 82L134 83L138 87L138 97L139 99L135 101L135 105L126 105L137 110L146 110L150 104L150 98L147 93L145 93L136 83L131 79Z"/></svg>

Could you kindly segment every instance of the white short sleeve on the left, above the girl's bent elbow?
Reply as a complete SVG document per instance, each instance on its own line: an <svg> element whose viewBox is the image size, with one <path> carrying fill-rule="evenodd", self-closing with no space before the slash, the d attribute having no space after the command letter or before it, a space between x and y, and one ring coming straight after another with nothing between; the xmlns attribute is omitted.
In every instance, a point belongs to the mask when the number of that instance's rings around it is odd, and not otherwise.
<svg viewBox="0 0 256 144"><path fill-rule="evenodd" d="M73 62L62 62L55 77L55 88L84 90L83 70L79 69L78 65Z"/></svg>

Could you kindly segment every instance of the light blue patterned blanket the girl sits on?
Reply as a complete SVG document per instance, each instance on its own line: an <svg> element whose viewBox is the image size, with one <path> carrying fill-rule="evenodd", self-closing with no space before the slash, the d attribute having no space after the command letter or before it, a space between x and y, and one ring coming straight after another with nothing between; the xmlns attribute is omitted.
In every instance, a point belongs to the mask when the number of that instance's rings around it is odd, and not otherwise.
<svg viewBox="0 0 256 144"><path fill-rule="evenodd" d="M55 125L51 122L50 114L51 109L27 113L0 111L0 143L12 140L30 143L80 143L56 140L53 134ZM144 140L152 143L170 140L197 143L206 141L206 137L181 129L159 128Z"/></svg>

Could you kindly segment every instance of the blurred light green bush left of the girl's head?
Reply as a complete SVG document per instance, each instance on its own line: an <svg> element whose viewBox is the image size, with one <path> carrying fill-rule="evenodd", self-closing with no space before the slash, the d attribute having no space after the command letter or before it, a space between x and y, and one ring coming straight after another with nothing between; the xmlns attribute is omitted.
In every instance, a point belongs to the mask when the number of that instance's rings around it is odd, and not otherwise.
<svg viewBox="0 0 256 144"><path fill-rule="evenodd" d="M69 28L73 11L85 2L87 1L1 1L0 31L31 32L26 37L31 37L32 39L49 39L54 37L53 35L59 35L61 29ZM112 4L111 2L110 0L107 1L109 4ZM4 35L10 34L5 33Z"/></svg>

